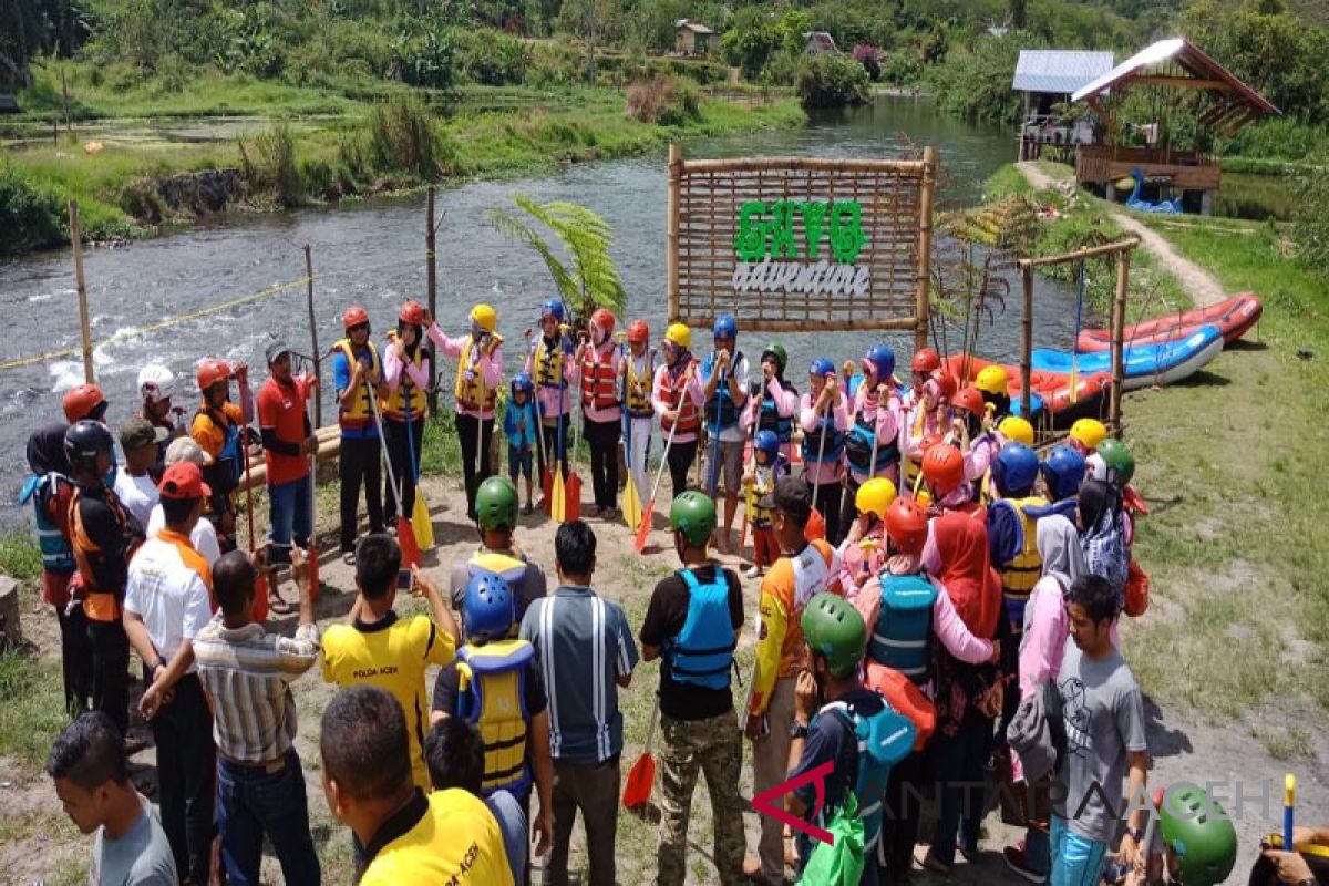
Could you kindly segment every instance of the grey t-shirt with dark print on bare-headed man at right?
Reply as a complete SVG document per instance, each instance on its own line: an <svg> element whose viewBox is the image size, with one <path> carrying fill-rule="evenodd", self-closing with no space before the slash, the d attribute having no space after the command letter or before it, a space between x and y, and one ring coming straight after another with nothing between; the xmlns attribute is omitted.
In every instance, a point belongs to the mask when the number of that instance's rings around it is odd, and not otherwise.
<svg viewBox="0 0 1329 886"><path fill-rule="evenodd" d="M1087 840L1111 842L1123 806L1126 753L1147 751L1144 699L1122 654L1095 662L1074 640L1058 676L1066 721L1066 757L1058 773L1066 798L1055 813Z"/></svg>

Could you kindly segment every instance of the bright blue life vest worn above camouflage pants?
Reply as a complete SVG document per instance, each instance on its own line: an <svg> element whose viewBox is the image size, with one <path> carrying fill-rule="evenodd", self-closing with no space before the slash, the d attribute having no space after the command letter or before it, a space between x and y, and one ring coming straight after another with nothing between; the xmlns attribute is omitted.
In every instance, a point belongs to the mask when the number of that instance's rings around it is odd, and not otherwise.
<svg viewBox="0 0 1329 886"><path fill-rule="evenodd" d="M675 683L727 689L735 644L724 570L715 567L715 580L708 584L698 582L690 569L676 574L687 584L688 600L683 630L663 650L670 673Z"/></svg>

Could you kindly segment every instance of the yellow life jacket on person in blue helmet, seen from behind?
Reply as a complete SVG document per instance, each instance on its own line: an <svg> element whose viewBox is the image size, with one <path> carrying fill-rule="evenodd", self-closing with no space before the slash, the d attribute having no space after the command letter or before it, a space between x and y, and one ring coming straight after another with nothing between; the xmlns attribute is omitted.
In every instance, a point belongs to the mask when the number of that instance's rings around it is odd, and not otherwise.
<svg viewBox="0 0 1329 886"><path fill-rule="evenodd" d="M520 794L530 785L526 765L526 665L536 655L528 640L498 640L457 650L457 716L480 729L485 745L481 793Z"/></svg>

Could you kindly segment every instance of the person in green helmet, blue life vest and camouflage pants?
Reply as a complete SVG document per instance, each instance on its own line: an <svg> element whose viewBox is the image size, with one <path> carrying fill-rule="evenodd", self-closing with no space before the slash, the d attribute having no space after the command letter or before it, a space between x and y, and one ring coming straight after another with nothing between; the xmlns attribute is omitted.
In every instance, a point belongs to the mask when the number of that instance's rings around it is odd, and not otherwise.
<svg viewBox="0 0 1329 886"><path fill-rule="evenodd" d="M743 586L707 555L715 503L686 491L670 507L674 551L683 567L651 592L642 623L642 660L661 659L659 886L687 874L687 821L696 776L706 776L715 822L715 869L722 883L743 879L743 739L730 672L743 632Z"/></svg>

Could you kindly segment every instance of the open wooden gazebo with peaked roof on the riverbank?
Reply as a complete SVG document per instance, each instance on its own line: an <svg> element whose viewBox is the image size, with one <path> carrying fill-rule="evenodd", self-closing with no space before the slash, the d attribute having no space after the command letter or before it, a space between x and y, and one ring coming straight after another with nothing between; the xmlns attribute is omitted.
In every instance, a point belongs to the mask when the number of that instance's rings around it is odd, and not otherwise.
<svg viewBox="0 0 1329 886"><path fill-rule="evenodd" d="M1217 161L1197 150L1159 145L1156 138L1140 147L1120 145L1123 126L1118 100L1132 86L1199 90L1203 98L1193 105L1196 122L1223 135L1259 117L1278 113L1269 100L1181 37L1147 46L1071 96L1071 101L1088 105L1104 126L1102 145L1076 147L1075 178L1079 183L1107 189L1139 169L1147 181L1180 191L1187 205L1196 205L1195 197L1199 197L1197 209L1203 214L1208 214L1221 181Z"/></svg>

